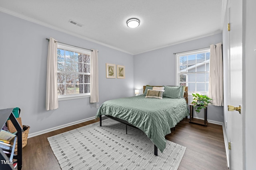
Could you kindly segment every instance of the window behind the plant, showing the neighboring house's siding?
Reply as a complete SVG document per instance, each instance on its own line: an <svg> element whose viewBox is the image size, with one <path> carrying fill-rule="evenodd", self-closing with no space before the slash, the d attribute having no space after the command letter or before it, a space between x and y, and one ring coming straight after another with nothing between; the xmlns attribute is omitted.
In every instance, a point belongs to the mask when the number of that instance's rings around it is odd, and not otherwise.
<svg viewBox="0 0 256 170"><path fill-rule="evenodd" d="M210 49L176 54L177 84L188 86L188 92L208 93Z"/></svg>

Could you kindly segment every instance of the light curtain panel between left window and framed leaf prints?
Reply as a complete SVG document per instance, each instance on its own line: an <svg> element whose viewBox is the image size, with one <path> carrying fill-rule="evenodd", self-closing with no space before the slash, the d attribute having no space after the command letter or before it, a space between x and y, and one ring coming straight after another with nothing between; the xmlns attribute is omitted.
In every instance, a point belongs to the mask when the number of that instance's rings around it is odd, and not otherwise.
<svg viewBox="0 0 256 170"><path fill-rule="evenodd" d="M90 75L90 103L99 102L98 89L98 50L92 49Z"/></svg>

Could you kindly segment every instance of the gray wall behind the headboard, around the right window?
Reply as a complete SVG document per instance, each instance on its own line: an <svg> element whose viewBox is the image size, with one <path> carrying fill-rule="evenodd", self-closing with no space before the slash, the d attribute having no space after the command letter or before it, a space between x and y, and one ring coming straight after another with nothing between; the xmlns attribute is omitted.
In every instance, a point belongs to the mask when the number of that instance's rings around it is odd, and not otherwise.
<svg viewBox="0 0 256 170"><path fill-rule="evenodd" d="M173 53L210 47L211 44L222 42L222 33L156 49L134 55L134 89L142 89L144 85L176 85L176 61ZM192 102L192 96L189 101ZM201 111L195 117L203 118ZM223 107L209 106L208 120L223 122Z"/></svg>

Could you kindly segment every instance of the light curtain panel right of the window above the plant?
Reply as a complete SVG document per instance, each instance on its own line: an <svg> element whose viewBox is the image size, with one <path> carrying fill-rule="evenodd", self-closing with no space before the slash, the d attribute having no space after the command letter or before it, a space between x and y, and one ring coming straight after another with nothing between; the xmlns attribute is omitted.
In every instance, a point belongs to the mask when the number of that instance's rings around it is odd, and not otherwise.
<svg viewBox="0 0 256 170"><path fill-rule="evenodd" d="M221 43L210 45L210 74L208 97L212 105L223 106L223 62Z"/></svg>

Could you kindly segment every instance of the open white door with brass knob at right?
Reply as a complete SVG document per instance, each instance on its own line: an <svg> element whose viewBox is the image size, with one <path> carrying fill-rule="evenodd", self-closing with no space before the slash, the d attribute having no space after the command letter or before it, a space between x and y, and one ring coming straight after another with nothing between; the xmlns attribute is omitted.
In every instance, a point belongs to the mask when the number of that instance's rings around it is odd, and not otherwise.
<svg viewBox="0 0 256 170"><path fill-rule="evenodd" d="M230 169L243 169L243 126L242 126L242 0L230 0L229 11L229 45L230 45L230 103L238 107L241 113L229 111L230 114Z"/></svg>

